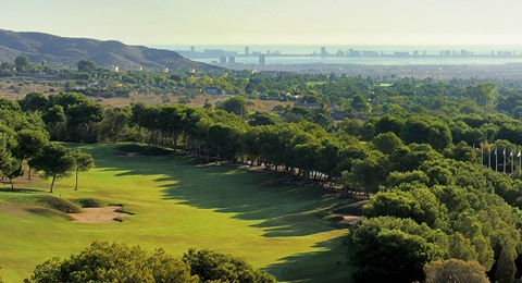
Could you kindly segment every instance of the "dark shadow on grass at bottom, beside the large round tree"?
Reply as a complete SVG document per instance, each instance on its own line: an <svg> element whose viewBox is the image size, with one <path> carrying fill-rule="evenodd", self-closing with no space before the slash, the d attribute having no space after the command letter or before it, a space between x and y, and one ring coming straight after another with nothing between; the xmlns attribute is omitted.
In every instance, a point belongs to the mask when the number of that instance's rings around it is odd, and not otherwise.
<svg viewBox="0 0 522 283"><path fill-rule="evenodd" d="M263 271L279 281L291 282L351 282L352 268L345 257L344 237L318 243L321 251L297 254L281 259Z"/></svg>

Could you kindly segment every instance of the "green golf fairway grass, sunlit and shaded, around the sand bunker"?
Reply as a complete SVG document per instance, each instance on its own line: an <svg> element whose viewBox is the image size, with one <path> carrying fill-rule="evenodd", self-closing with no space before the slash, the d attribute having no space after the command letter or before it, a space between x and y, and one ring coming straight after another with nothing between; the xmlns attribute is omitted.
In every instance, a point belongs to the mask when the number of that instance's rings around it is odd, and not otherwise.
<svg viewBox="0 0 522 283"><path fill-rule="evenodd" d="M5 282L20 282L36 264L69 257L92 241L162 247L179 257L189 247L211 248L243 257L279 281L349 281L341 247L347 230L327 220L347 200L282 185L270 173L201 164L175 153L122 156L112 145L82 149L97 165L79 175L78 190L72 189L74 177L59 180L53 194L46 193L48 182L15 180L23 189L0 188L0 276ZM50 212L63 206L49 202L121 204L134 214L121 223L75 223Z"/></svg>

